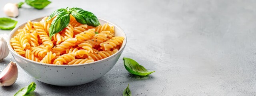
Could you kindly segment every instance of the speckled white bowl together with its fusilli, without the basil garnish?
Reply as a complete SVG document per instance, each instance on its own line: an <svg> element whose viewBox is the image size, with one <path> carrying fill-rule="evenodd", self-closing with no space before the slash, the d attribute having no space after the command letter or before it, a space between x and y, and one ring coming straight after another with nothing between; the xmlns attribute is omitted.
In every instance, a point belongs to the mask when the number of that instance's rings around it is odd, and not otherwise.
<svg viewBox="0 0 256 96"><path fill-rule="evenodd" d="M46 84L76 86L96 80L117 62L126 46L126 34L114 23L80 24L70 15L66 28L49 37L46 17L24 22L12 30L8 48L17 64Z"/></svg>

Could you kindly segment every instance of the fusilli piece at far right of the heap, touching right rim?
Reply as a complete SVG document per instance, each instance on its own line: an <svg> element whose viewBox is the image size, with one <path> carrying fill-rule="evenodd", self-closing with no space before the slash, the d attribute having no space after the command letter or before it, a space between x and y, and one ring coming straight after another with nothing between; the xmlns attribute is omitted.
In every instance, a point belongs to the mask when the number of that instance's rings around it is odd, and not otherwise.
<svg viewBox="0 0 256 96"><path fill-rule="evenodd" d="M116 37L112 37L110 40L106 42L101 43L100 46L101 46L101 49L110 50L116 47L117 45L120 45L123 41L124 41L124 37L116 36Z"/></svg>

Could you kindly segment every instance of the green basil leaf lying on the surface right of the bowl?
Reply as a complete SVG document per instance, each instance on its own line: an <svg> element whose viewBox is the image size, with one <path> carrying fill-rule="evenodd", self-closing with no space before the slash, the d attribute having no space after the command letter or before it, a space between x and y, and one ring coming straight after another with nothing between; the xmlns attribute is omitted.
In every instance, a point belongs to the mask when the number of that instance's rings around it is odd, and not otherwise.
<svg viewBox="0 0 256 96"><path fill-rule="evenodd" d="M149 72L146 68L138 64L135 60L132 60L130 58L123 58L124 60L124 67L128 72L134 75L139 75L139 76L146 76L148 74L151 74L155 71Z"/></svg>

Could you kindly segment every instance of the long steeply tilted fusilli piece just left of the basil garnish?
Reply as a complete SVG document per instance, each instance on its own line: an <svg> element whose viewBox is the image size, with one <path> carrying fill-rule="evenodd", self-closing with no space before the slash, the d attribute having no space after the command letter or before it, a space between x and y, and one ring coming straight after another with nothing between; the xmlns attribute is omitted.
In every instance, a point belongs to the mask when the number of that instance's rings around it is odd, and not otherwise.
<svg viewBox="0 0 256 96"><path fill-rule="evenodd" d="M34 22L33 24L35 30L37 31L37 34L39 35L40 39L42 40L44 46L47 48L52 48L53 43L48 34L44 30L44 26L39 22Z"/></svg>

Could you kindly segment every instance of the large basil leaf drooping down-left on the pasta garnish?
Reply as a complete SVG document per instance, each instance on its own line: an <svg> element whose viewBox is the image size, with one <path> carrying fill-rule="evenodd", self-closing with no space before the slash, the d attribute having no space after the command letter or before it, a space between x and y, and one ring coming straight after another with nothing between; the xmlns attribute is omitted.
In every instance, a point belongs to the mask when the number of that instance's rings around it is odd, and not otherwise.
<svg viewBox="0 0 256 96"><path fill-rule="evenodd" d="M49 28L49 37L52 36L68 26L70 22L70 16L68 12L61 12L53 20Z"/></svg>

